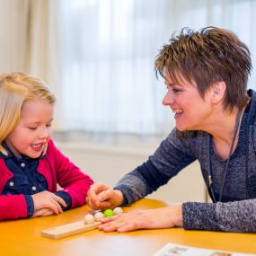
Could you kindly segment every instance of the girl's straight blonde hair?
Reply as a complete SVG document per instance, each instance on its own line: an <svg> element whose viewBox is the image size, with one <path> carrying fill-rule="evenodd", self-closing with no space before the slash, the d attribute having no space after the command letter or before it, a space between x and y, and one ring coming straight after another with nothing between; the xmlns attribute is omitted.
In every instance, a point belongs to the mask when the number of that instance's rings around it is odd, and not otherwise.
<svg viewBox="0 0 256 256"><path fill-rule="evenodd" d="M54 104L56 97L40 78L20 72L0 75L0 152L7 155L3 142L21 119L25 102L42 100Z"/></svg>

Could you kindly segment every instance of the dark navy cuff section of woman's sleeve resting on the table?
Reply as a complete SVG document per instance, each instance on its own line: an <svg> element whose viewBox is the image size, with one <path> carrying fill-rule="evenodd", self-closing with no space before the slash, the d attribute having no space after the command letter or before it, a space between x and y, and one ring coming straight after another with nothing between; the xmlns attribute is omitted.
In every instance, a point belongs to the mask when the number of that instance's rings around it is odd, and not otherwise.
<svg viewBox="0 0 256 256"><path fill-rule="evenodd" d="M213 203L183 203L182 215L184 229L220 230Z"/></svg>

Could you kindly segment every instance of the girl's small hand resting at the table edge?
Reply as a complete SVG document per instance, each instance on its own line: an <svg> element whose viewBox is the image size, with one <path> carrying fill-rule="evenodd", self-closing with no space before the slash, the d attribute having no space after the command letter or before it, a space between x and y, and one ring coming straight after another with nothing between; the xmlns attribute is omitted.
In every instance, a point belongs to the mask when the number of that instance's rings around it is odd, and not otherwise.
<svg viewBox="0 0 256 256"><path fill-rule="evenodd" d="M34 213L40 209L49 208L53 213L60 214L63 213L62 208L66 207L66 202L64 199L61 199L54 193L49 191L42 191L40 193L34 194L31 196L34 201Z"/></svg>

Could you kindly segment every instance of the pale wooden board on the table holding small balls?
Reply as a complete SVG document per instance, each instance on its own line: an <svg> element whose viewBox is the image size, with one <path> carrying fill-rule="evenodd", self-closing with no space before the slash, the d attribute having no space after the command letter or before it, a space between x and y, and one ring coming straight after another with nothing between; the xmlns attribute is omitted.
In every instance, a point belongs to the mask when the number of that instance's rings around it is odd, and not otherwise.
<svg viewBox="0 0 256 256"><path fill-rule="evenodd" d="M84 221L73 222L66 225L58 225L41 231L41 235L52 239L63 238L72 234L80 234L86 231L96 229L100 222L93 224L84 224Z"/></svg>

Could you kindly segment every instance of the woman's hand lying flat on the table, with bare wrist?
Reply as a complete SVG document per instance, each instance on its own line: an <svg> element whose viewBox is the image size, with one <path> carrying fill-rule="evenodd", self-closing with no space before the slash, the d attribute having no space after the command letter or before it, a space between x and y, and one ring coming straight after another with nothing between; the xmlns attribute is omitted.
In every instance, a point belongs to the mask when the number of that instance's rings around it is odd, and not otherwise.
<svg viewBox="0 0 256 256"><path fill-rule="evenodd" d="M167 228L182 226L181 206L163 207L105 217L99 229L104 232L128 232L137 229Z"/></svg>

